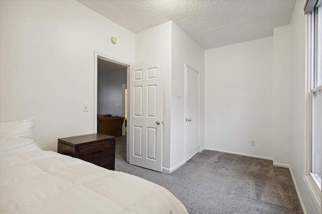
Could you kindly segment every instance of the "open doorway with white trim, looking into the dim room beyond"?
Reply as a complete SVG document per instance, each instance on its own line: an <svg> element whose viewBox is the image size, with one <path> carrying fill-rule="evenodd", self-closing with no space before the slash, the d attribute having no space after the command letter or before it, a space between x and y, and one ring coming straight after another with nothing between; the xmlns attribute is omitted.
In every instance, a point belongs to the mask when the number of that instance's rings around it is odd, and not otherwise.
<svg viewBox="0 0 322 214"><path fill-rule="evenodd" d="M119 116L126 118L127 98L125 91L128 82L129 65L111 60L110 57L95 52L95 96L94 96L94 133L98 132L98 118ZM127 161L128 137L126 120L120 127L121 136L116 137L118 156Z"/></svg>

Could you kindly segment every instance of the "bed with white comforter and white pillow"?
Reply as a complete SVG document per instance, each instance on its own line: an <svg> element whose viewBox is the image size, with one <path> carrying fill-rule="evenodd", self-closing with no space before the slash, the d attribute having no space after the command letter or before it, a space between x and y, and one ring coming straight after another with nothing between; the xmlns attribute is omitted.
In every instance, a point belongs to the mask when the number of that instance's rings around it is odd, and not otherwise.
<svg viewBox="0 0 322 214"><path fill-rule="evenodd" d="M0 123L0 213L188 213L162 186L41 150L32 124Z"/></svg>

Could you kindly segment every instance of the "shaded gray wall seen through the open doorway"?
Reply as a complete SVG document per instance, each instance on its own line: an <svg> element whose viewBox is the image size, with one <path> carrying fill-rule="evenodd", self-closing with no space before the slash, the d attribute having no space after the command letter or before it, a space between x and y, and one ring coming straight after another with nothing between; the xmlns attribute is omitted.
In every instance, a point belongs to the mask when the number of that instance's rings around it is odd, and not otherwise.
<svg viewBox="0 0 322 214"><path fill-rule="evenodd" d="M123 115L122 84L126 84L127 68L98 72L97 113Z"/></svg>

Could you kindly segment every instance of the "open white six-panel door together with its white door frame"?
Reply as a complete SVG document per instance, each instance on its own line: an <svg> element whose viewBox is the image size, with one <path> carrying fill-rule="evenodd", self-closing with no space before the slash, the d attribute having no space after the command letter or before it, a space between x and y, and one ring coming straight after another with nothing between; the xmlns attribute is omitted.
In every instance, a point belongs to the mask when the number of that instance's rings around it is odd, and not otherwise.
<svg viewBox="0 0 322 214"><path fill-rule="evenodd" d="M127 96L128 108L126 115L127 127L129 127L129 129L127 129L126 134L126 162L155 171L162 171L163 63L148 62L141 65L132 65L130 69L128 63L126 64L113 57L100 54L96 51L94 52L94 133L97 133L99 60L125 66L127 69L127 92L128 95L131 93L133 94L132 96ZM143 67L139 68L141 66ZM131 79L130 72L132 73ZM144 86L142 84L140 86L135 85L132 81L135 81L136 83L142 82ZM142 99L139 99L139 97ZM119 107L119 105L117 106ZM132 114L130 114L130 112ZM137 119L143 116L146 120L134 120L134 118ZM145 128L143 128L143 126ZM143 129L144 131L147 131L144 135ZM142 130L142 134L139 133L140 130ZM132 135L131 144L129 143L130 135ZM145 149L141 150L141 148ZM135 152L133 152L133 149ZM139 157L140 151L142 151L142 157L144 158L141 158L142 161L137 164L134 162L133 157Z"/></svg>

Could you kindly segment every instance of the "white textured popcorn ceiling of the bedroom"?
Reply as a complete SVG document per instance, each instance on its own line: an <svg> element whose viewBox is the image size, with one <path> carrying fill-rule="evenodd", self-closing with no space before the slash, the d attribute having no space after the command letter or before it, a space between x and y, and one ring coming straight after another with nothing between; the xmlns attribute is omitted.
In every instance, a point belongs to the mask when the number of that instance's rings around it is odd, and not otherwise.
<svg viewBox="0 0 322 214"><path fill-rule="evenodd" d="M294 0L76 0L133 33L173 21L203 49L273 35Z"/></svg>

